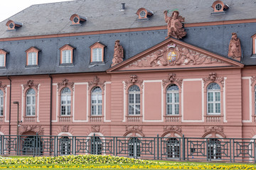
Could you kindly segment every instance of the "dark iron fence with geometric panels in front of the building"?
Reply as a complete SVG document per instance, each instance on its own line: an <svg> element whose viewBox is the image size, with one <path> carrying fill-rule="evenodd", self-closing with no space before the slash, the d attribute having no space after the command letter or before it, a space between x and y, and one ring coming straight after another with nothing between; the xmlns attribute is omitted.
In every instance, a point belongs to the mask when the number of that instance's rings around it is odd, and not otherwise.
<svg viewBox="0 0 256 170"><path fill-rule="evenodd" d="M110 154L136 159L256 162L256 139L1 135L1 155Z"/></svg>

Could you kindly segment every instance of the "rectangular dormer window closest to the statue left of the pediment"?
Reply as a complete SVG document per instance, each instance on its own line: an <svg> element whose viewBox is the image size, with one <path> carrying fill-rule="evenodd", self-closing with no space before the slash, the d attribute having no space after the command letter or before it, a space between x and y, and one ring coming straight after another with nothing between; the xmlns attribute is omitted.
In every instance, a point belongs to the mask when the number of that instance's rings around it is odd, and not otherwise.
<svg viewBox="0 0 256 170"><path fill-rule="evenodd" d="M104 47L100 42L90 46L91 49L91 62L104 62Z"/></svg>

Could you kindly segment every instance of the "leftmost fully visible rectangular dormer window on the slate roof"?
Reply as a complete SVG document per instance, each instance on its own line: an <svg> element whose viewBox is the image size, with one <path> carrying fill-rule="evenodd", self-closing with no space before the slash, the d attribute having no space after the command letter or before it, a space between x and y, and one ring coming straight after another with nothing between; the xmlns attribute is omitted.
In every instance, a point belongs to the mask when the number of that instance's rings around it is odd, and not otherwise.
<svg viewBox="0 0 256 170"><path fill-rule="evenodd" d="M26 50L26 67L38 66L38 53L40 51L37 47L30 47Z"/></svg>

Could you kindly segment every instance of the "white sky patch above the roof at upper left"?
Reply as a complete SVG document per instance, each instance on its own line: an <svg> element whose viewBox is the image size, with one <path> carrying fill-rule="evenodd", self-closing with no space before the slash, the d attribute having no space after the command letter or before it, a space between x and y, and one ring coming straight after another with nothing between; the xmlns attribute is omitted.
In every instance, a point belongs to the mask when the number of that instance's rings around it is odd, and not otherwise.
<svg viewBox="0 0 256 170"><path fill-rule="evenodd" d="M34 4L46 4L51 2L70 0L1 0L0 22Z"/></svg>

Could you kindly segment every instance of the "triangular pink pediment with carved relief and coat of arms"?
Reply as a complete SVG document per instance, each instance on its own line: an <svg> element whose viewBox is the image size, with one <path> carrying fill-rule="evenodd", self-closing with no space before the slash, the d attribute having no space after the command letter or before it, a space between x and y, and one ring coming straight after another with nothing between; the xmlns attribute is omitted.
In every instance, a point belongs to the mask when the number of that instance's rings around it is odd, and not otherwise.
<svg viewBox="0 0 256 170"><path fill-rule="evenodd" d="M243 64L227 57L216 55L186 42L169 41L138 54L114 70L139 69L195 69L200 67L242 67ZM111 69L111 68L110 68Z"/></svg>

